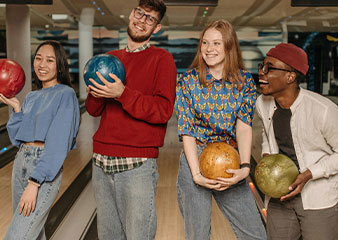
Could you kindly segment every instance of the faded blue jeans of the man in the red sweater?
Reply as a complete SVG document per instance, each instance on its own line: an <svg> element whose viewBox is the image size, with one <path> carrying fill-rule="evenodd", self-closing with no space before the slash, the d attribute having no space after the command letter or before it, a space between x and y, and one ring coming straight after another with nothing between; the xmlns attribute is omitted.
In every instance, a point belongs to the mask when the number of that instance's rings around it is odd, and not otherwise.
<svg viewBox="0 0 338 240"><path fill-rule="evenodd" d="M92 180L100 240L155 238L156 159L116 174L106 174L93 162Z"/></svg>

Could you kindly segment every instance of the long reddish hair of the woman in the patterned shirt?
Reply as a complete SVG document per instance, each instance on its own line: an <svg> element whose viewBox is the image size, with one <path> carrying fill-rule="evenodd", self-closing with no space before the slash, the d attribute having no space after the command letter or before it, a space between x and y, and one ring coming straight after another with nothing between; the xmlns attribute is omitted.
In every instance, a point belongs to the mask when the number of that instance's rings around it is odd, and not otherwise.
<svg viewBox="0 0 338 240"><path fill-rule="evenodd" d="M234 83L238 89L241 89L242 83L244 81L240 70L244 69L243 59L241 50L239 47L239 42L237 35L233 26L226 20L216 20L210 22L202 31L200 41L198 44L198 50L196 56L190 66L190 68L196 68L198 71L200 82L203 86L207 86L206 82L206 67L202 53L201 46L203 42L203 36L208 29L214 28L219 31L222 35L225 58L224 58L224 68L222 81L227 79Z"/></svg>

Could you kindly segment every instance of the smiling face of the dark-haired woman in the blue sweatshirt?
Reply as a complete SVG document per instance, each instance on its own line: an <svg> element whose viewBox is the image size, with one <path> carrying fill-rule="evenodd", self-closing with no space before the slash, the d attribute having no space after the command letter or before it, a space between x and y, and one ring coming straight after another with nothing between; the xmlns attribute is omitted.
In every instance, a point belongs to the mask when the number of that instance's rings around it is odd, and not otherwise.
<svg viewBox="0 0 338 240"><path fill-rule="evenodd" d="M42 82L43 88L58 84L56 57L51 45L40 47L35 55L33 67L36 76Z"/></svg>

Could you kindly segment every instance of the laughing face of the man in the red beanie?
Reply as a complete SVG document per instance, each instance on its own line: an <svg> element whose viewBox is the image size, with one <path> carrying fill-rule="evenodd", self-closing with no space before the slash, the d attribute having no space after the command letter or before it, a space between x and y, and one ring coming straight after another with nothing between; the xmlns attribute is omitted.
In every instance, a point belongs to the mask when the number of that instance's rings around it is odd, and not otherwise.
<svg viewBox="0 0 338 240"><path fill-rule="evenodd" d="M273 68L291 70L288 65L274 57L267 56L264 60L264 64ZM258 75L262 93L264 95L272 95L275 98L283 96L291 84L296 84L294 72L270 69L267 74L264 74L263 70L260 69Z"/></svg>

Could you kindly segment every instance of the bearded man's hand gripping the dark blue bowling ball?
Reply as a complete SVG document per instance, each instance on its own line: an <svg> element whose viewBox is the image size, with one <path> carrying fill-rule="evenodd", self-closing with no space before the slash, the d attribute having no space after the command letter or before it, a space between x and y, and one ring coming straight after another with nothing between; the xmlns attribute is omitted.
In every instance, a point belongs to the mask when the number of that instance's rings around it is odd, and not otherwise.
<svg viewBox="0 0 338 240"><path fill-rule="evenodd" d="M124 85L122 81L113 73L109 73L109 77L111 77L115 82L107 81L99 72L96 72L96 75L100 78L104 85L98 84L93 79L89 79L89 81L94 85L89 85L90 94L94 97L103 97L103 98L119 98L123 91Z"/></svg>

